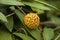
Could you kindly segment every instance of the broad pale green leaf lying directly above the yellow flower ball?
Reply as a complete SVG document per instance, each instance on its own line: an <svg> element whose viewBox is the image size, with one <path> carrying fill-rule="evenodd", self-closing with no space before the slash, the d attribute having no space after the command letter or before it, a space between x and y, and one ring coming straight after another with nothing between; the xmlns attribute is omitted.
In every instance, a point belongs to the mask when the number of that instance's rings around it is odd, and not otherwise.
<svg viewBox="0 0 60 40"><path fill-rule="evenodd" d="M42 10L50 10L49 7L47 7L44 4L41 4L40 2L37 2L37 1L32 1L32 2L25 2L25 1L23 1L22 3L24 3L25 5L29 5L31 7L42 9Z"/></svg>

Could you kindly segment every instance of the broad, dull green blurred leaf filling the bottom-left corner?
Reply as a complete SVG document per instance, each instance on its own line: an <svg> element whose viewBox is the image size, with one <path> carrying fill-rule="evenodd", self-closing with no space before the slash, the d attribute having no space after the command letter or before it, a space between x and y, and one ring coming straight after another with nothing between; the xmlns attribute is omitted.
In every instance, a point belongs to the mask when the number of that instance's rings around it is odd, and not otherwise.
<svg viewBox="0 0 60 40"><path fill-rule="evenodd" d="M0 28L0 40L13 40L9 32Z"/></svg>

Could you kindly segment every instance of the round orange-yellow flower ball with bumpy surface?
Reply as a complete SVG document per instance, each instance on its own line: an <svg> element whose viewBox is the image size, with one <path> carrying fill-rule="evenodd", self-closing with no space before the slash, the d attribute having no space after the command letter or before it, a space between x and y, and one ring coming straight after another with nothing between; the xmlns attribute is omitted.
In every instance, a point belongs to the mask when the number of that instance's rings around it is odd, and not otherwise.
<svg viewBox="0 0 60 40"><path fill-rule="evenodd" d="M25 25L27 25L28 28L35 29L40 23L40 18L36 13L28 13L24 17L24 23Z"/></svg>

